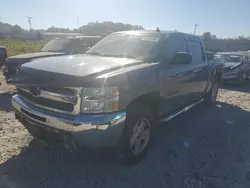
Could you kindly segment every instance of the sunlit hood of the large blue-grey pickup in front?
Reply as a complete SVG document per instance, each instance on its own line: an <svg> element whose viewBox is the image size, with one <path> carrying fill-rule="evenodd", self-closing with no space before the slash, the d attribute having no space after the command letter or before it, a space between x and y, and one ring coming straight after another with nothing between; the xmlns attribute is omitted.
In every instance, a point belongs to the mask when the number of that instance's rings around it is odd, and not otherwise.
<svg viewBox="0 0 250 188"><path fill-rule="evenodd" d="M49 57L26 63L18 70L21 84L78 85L85 80L111 71L140 66L148 63L130 58L74 55Z"/></svg>

